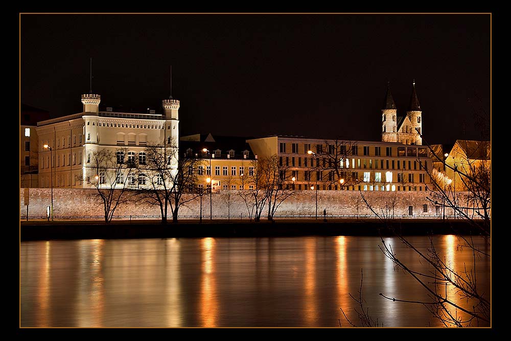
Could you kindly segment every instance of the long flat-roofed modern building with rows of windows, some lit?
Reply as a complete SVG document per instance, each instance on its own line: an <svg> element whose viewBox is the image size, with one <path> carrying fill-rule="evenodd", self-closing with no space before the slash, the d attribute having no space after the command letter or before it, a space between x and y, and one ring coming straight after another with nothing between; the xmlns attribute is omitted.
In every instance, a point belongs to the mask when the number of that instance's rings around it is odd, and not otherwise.
<svg viewBox="0 0 511 341"><path fill-rule="evenodd" d="M279 163L286 169L285 185L295 190L311 190L317 184L318 190L426 191L431 182L426 170L431 170L433 163L425 146L280 136L247 142L259 157L271 156L265 152L277 150ZM337 173L332 173L334 168L324 150L336 144L346 150L339 160L342 185Z"/></svg>

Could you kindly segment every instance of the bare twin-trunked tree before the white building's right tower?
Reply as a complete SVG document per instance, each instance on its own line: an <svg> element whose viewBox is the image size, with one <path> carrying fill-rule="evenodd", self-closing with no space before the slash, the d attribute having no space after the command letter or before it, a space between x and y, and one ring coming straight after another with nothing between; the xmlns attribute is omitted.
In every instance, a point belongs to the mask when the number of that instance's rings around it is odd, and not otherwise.
<svg viewBox="0 0 511 341"><path fill-rule="evenodd" d="M176 147L149 145L145 153L146 162L139 165L138 174L146 177L147 183L138 187L137 195L159 207L162 223L168 220L168 207L172 221L177 222L179 209L200 195L197 171L203 161L193 153L183 153L178 157ZM176 158L177 165L173 162Z"/></svg>

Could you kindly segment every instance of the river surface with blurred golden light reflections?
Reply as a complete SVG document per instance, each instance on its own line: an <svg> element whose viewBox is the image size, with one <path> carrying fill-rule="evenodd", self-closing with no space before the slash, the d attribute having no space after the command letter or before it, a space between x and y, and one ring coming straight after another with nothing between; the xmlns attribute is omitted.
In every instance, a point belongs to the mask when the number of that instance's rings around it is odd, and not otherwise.
<svg viewBox="0 0 511 341"><path fill-rule="evenodd" d="M385 241L414 270L431 270L399 240ZM412 242L430 246L427 237ZM427 299L411 276L394 271L379 243L342 236L23 242L21 326L338 327L340 307L356 319L349 293L358 296L361 268L371 316L388 327L439 326L421 305L378 295ZM471 252L458 243L438 236L435 247L460 271ZM477 268L478 289L489 292L490 260Z"/></svg>

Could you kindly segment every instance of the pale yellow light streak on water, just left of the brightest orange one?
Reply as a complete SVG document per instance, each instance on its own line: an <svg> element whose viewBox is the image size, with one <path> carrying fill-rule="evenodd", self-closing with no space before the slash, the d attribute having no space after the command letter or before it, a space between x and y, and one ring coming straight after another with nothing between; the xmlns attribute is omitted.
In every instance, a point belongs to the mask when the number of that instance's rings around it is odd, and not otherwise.
<svg viewBox="0 0 511 341"><path fill-rule="evenodd" d="M182 327L181 305L181 269L180 269L181 244L177 239L167 240L167 281L165 283L167 293L166 316L168 327Z"/></svg>

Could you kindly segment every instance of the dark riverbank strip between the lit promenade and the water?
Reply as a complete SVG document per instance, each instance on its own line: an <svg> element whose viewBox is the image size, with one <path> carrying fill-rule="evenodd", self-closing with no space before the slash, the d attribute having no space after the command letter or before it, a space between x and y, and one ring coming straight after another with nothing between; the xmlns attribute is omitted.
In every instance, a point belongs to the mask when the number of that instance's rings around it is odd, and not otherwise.
<svg viewBox="0 0 511 341"><path fill-rule="evenodd" d="M202 238L202 237L292 237L292 236L379 236L379 235L478 235L465 221L393 220L299 221L299 222L152 222L86 221L21 222L20 239L117 239L117 238Z"/></svg>

